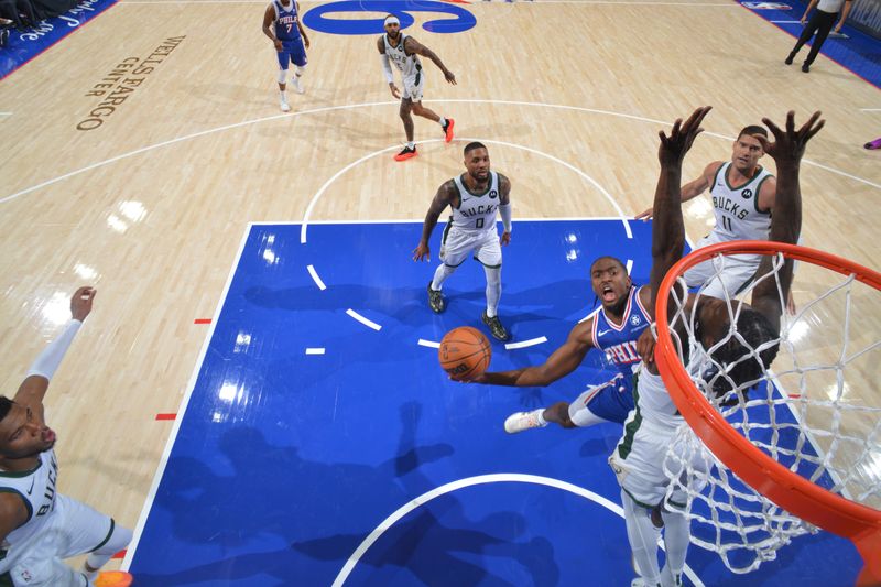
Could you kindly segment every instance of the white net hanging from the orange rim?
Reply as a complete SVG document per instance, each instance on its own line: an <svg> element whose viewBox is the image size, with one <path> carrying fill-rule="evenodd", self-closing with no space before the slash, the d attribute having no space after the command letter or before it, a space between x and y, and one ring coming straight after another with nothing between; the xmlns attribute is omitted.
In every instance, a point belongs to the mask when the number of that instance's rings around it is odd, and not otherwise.
<svg viewBox="0 0 881 587"><path fill-rule="evenodd" d="M737 260L717 254L711 263L718 276ZM785 307L777 280L782 254L774 258L773 265L763 280L774 280ZM758 282L738 295L726 292L730 324L737 323L741 312L732 301L749 303L755 285ZM703 291L698 291L698 300ZM800 265L793 291L800 307L794 315L784 314L780 338L743 351L743 360L748 360L780 344L771 368L759 379L718 396L719 388L725 387L720 383L732 380L715 362L692 380L755 448L815 485L881 510L881 392L877 383L881 293L852 275L809 263ZM679 349L684 345L695 348L697 304L686 311L675 291L671 296L677 307L671 322L682 319L688 337L679 339L672 330L674 344ZM729 328L726 339L707 350L713 354L732 338L746 345L737 328ZM679 352L679 360L682 357ZM687 424L677 431L664 470L671 479L668 498L682 500L685 496L692 542L719 553L735 573L758 568L796 536L817 531L744 483Z"/></svg>

